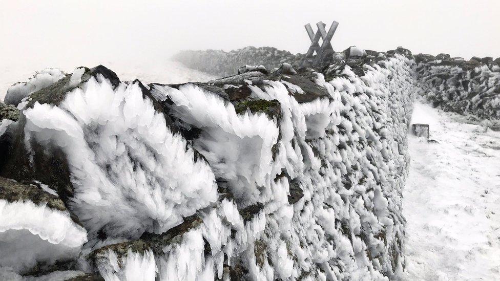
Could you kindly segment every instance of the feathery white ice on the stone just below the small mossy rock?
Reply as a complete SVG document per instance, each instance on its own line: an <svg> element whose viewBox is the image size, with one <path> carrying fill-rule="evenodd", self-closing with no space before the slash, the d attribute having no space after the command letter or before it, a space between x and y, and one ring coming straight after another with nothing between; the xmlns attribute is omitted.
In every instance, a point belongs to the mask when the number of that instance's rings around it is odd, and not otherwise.
<svg viewBox="0 0 500 281"><path fill-rule="evenodd" d="M169 96L175 103L174 116L189 126L204 128L194 147L209 161L217 177L230 181L238 199L256 202L258 187L270 178L271 148L279 133L276 122L264 113L238 115L231 103L192 84L179 90L155 85L153 94Z"/></svg>

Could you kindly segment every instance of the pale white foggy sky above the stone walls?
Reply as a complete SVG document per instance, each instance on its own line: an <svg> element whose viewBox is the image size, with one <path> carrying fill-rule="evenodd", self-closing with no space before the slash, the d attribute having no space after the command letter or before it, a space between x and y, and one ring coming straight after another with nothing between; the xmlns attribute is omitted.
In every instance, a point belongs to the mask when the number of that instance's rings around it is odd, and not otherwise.
<svg viewBox="0 0 500 281"><path fill-rule="evenodd" d="M304 53L304 25L315 28L319 20L339 21L335 50L403 46L414 53L500 56L498 0L0 3L1 85L44 67L161 67L182 49L272 46Z"/></svg>

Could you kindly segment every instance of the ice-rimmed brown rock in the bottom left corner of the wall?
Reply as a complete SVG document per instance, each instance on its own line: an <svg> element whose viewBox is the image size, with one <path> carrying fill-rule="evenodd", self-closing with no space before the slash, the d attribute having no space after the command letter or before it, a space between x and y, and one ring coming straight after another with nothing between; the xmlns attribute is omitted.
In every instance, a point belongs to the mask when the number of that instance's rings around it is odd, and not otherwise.
<svg viewBox="0 0 500 281"><path fill-rule="evenodd" d="M60 199L0 177L0 267L28 272L71 260L86 242Z"/></svg>

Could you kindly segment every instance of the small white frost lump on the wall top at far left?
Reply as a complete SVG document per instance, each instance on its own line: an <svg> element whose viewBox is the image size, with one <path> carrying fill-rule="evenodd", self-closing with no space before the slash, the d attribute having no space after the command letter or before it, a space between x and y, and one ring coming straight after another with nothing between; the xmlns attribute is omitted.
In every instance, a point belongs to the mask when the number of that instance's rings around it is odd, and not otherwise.
<svg viewBox="0 0 500 281"><path fill-rule="evenodd" d="M4 101L7 105L12 104L17 106L17 104L29 94L43 89L64 77L65 73L58 69L48 68L39 71L27 82L18 82L12 85L7 90Z"/></svg>

